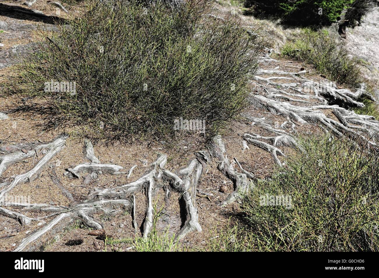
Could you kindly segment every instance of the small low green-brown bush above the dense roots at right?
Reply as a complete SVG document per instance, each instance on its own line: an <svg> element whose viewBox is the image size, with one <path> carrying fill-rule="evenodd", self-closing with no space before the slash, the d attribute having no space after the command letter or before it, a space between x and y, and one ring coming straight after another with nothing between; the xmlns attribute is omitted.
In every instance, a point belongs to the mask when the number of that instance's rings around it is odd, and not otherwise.
<svg viewBox="0 0 379 278"><path fill-rule="evenodd" d="M282 54L313 64L317 71L336 82L353 87L362 82L358 62L349 58L345 42L339 42L327 31L305 29L299 39L283 46Z"/></svg>

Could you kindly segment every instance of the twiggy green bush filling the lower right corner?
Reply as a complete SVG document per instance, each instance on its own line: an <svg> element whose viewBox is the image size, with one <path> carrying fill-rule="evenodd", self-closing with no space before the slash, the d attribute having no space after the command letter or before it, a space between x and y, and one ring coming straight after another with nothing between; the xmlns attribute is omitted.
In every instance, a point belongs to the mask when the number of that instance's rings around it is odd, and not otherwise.
<svg viewBox="0 0 379 278"><path fill-rule="evenodd" d="M378 251L379 150L336 138L302 145L303 154L244 199L257 250ZM262 206L266 194L290 196L290 206Z"/></svg>

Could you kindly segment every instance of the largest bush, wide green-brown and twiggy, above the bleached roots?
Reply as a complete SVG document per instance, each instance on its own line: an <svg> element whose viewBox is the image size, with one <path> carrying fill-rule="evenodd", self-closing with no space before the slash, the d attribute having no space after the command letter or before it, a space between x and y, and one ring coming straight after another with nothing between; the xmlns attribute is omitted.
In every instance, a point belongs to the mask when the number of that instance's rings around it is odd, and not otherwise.
<svg viewBox="0 0 379 278"><path fill-rule="evenodd" d="M217 130L244 107L266 41L234 17L204 18L208 8L97 3L42 43L23 65L21 88L48 97L92 137L173 134L180 117ZM49 80L75 81L76 94L45 92Z"/></svg>

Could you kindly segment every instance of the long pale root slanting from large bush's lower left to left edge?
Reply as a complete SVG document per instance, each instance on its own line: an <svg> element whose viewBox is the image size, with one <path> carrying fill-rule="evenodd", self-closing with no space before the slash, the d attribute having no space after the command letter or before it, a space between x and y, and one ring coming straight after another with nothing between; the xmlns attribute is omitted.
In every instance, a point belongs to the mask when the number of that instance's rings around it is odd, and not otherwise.
<svg viewBox="0 0 379 278"><path fill-rule="evenodd" d="M49 162L52 157L54 157L58 152L60 152L65 147L66 139L68 138L67 135L61 136L52 143L50 143L49 151L42 157L38 163L25 174L20 174L16 177L14 177L13 181L10 183L7 183L3 185L0 189L0 201L4 199L4 196L6 193L8 193L10 190L12 190L16 185L23 184L25 182L34 181L39 176L39 173L41 172L42 168L45 166L47 162ZM29 153L29 152L28 152ZM19 161L19 158L15 159L16 162ZM11 163L14 163L14 160L9 159L8 156L2 160L2 163L4 161L4 167L6 168Z"/></svg>

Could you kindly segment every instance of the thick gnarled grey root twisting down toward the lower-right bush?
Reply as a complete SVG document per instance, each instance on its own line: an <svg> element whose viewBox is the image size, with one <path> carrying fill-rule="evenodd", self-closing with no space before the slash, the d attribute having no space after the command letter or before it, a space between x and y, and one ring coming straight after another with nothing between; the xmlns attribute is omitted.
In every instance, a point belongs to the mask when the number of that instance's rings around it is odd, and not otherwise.
<svg viewBox="0 0 379 278"><path fill-rule="evenodd" d="M221 206L226 206L234 201L240 201L240 196L250 191L251 184L247 181L246 174L238 173L235 170L235 162L230 163L226 152L226 146L221 139L220 135L217 135L212 140L212 155L216 157L220 163L217 168L224 176L228 177L234 186L234 191L227 196L227 198L221 203Z"/></svg>

